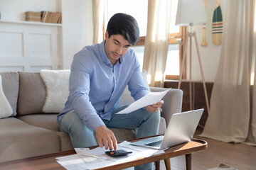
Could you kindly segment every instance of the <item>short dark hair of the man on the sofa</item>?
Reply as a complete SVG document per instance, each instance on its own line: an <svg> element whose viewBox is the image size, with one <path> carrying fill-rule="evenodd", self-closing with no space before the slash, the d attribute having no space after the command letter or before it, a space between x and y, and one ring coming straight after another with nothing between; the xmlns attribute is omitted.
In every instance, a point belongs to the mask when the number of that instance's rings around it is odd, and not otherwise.
<svg viewBox="0 0 256 170"><path fill-rule="evenodd" d="M139 26L136 19L126 13L116 13L107 23L107 33L111 35L122 35L132 45L139 39Z"/></svg>

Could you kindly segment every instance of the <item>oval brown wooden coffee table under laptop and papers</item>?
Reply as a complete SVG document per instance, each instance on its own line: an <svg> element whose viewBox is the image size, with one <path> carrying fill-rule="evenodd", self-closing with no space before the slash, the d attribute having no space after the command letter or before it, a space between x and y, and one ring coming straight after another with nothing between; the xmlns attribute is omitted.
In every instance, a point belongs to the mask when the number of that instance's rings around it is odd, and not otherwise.
<svg viewBox="0 0 256 170"><path fill-rule="evenodd" d="M137 140L129 140L129 142L135 142ZM154 155L151 157L144 157L141 159L136 159L131 162L126 162L122 164L117 164L113 166L105 166L100 169L113 170L113 169L124 169L131 166L137 166L140 164L146 164L149 162L156 162L156 169L160 168L160 161L165 160L166 169L171 169L170 158L177 157L180 155L186 155L186 169L191 169L191 154L193 152L202 151L208 147L207 142L203 140L193 139L190 142L186 142L181 145L176 145L174 147L169 147L164 153ZM93 147L92 147L93 148ZM63 166L56 162L56 157L63 157L66 155L75 154L74 150L60 152L57 154L48 154L40 157L33 157L28 159L20 159L12 162L6 162L0 164L0 169L65 169Z"/></svg>

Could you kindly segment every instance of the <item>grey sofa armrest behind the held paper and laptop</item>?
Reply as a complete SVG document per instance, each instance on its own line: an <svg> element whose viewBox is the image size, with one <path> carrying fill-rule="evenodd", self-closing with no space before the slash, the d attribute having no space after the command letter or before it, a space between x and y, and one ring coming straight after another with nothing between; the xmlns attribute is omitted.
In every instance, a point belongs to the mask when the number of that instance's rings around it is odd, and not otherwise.
<svg viewBox="0 0 256 170"><path fill-rule="evenodd" d="M164 91L166 89L167 88L150 87L150 91L152 92ZM182 98L183 91L181 89L170 89L168 93L164 96L164 105L162 105L161 107L163 109L163 111L161 112L161 117L165 118L166 125L169 124L171 115L181 112Z"/></svg>

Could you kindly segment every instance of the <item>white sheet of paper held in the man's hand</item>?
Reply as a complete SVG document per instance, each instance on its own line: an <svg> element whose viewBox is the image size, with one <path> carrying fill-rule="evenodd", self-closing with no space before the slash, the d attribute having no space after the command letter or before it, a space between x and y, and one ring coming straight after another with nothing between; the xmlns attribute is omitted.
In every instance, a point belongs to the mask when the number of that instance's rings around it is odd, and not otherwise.
<svg viewBox="0 0 256 170"><path fill-rule="evenodd" d="M139 98L139 100L134 101L134 103L130 104L127 108L124 108L124 110L119 111L116 114L128 114L132 111L136 111L139 108L157 103L167 94L170 89L160 92L149 92L149 94L146 94L146 96L143 96L142 98Z"/></svg>

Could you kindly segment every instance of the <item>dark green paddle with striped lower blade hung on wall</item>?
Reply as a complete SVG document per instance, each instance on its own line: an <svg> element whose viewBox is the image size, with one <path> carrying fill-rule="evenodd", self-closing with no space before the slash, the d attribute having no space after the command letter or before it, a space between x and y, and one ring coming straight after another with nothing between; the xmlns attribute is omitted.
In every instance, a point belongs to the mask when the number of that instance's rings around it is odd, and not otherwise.
<svg viewBox="0 0 256 170"><path fill-rule="evenodd" d="M212 40L214 45L221 45L223 36L223 18L220 9L220 0L217 0L213 12L213 32Z"/></svg>

